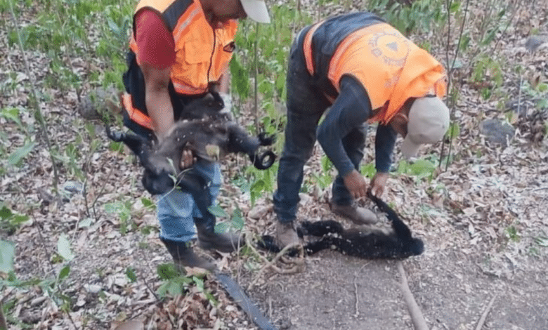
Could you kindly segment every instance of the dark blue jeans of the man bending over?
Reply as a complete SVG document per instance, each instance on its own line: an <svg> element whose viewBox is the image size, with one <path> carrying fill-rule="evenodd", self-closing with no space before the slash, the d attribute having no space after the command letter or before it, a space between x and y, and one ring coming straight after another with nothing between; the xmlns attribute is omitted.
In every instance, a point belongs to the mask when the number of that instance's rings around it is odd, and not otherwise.
<svg viewBox="0 0 548 330"><path fill-rule="evenodd" d="M316 128L322 114L331 103L315 86L306 69L303 53L304 31L295 39L289 52L287 70L287 126L285 145L278 168L278 189L274 193L274 211L282 223L296 218L299 206L299 191L303 183L303 168L310 159L316 141ZM359 169L365 147L365 124L353 129L342 140L344 150L355 169ZM339 205L352 203L350 192L341 176L332 186L333 202Z"/></svg>

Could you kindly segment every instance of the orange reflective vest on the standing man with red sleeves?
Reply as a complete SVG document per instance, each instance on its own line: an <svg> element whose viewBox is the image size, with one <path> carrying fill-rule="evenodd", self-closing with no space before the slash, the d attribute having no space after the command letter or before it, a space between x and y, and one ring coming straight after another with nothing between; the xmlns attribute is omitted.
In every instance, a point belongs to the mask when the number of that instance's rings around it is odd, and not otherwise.
<svg viewBox="0 0 548 330"><path fill-rule="evenodd" d="M157 11L173 34L176 58L175 64L171 66L171 84L174 91L181 95L206 93L209 84L218 81L226 72L232 58L237 21L230 20L223 28L213 29L205 18L199 0L141 0L135 15L145 8ZM139 50L135 34L133 31L129 48L131 53L137 55ZM144 85L143 79L139 80L132 83ZM136 106L132 100L139 96L126 93L122 103L131 121L152 129L152 121L146 109Z"/></svg>

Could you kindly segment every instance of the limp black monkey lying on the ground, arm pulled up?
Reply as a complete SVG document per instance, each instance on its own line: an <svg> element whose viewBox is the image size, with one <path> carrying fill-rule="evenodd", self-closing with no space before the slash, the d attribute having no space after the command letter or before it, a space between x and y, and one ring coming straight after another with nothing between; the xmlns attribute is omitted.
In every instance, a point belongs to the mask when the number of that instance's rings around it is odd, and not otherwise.
<svg viewBox="0 0 548 330"><path fill-rule="evenodd" d="M424 243L421 239L412 237L411 230L403 223L398 213L371 192L367 192L367 196L386 213L393 232L365 232L358 228L344 230L342 225L334 220L315 223L304 221L297 230L299 236L321 237L305 244L304 252L310 255L323 249L335 249L348 256L365 259L403 259L421 254L424 251ZM263 236L259 246L273 252L280 251L271 236ZM295 252L289 251L290 254Z"/></svg>

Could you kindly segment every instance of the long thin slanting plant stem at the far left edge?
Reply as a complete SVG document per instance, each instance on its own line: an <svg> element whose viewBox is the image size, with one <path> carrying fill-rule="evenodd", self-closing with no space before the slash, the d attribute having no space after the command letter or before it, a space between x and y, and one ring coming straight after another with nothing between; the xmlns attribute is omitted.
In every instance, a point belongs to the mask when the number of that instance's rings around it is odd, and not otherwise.
<svg viewBox="0 0 548 330"><path fill-rule="evenodd" d="M46 121L44 120L44 116L42 115L42 112L40 110L40 107L39 107L39 104L38 104L38 97L36 95L36 91L34 91L34 88L37 86L37 84L36 84L36 81L34 79L34 76L32 75L32 72L30 71L29 62L27 60L27 56L25 55L25 47L22 44L21 31L19 29L19 22L17 21L17 17L15 16L15 11L13 9L12 0L9 0L9 4L10 4L11 17L13 19L13 23L15 24L15 30L17 31L17 39L18 39L18 44L19 44L19 48L20 48L20 51L21 51L21 57L23 59L23 62L25 62L25 71L27 72L27 76L29 77L30 82L31 82L31 88L30 88L31 98L30 99L31 99L32 107L34 107L34 117L36 119L38 119L38 121L40 123L41 131L42 131L41 135L44 138L44 140L46 141L46 146L48 148L49 157L51 159L51 167L53 168L53 190L55 190L56 196L59 198L59 191L58 191L58 188L57 188L58 182L59 182L59 175L58 175L58 171L57 171L56 160L55 160L55 157L53 157L53 150L51 149L51 142L50 142L49 137L48 137L48 130L47 130L47 127L46 127Z"/></svg>

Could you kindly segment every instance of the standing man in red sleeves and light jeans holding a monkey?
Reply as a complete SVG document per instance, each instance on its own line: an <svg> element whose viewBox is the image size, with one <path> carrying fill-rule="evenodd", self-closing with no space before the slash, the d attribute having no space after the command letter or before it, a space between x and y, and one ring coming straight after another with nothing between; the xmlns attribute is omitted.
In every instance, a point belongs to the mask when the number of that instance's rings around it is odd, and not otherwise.
<svg viewBox="0 0 548 330"><path fill-rule="evenodd" d="M228 91L226 70L237 19L247 16L270 22L263 0L141 0L124 74L124 124L162 141L191 100L220 93L227 108L230 102L223 93ZM221 185L218 164L196 161L183 151L181 166L192 165L193 173L209 183L207 193L214 201ZM180 190L157 198L157 216L159 237L179 267L215 268L190 247L195 225L202 249L230 252L242 243L238 235L214 232L215 223L205 221L190 194Z"/></svg>

